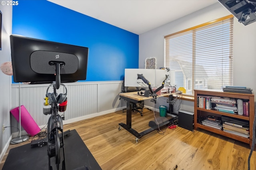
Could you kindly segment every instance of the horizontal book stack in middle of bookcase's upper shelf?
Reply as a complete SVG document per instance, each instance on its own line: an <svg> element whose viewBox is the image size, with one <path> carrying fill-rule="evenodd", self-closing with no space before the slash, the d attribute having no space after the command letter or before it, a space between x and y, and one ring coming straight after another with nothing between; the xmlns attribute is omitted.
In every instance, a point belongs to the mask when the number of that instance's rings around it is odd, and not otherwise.
<svg viewBox="0 0 256 170"><path fill-rule="evenodd" d="M214 109L222 111L225 113L237 113L236 100L234 98L220 98L214 97L211 99L212 103L215 103L216 106Z"/></svg>

